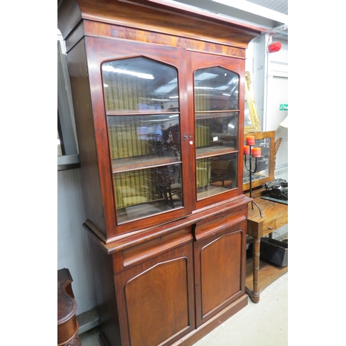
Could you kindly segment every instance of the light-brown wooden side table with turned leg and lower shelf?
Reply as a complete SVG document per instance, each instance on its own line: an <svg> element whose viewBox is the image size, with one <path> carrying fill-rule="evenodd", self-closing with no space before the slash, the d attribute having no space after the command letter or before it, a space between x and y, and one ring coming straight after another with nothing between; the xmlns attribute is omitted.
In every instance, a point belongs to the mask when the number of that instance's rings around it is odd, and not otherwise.
<svg viewBox="0 0 346 346"><path fill-rule="evenodd" d="M262 210L248 204L247 234L253 237L253 257L246 261L246 293L253 302L260 301L260 292L269 284L287 273L289 266L275 266L260 260L260 242L265 235L272 237L274 230L288 223L289 206L284 203L253 197Z"/></svg>

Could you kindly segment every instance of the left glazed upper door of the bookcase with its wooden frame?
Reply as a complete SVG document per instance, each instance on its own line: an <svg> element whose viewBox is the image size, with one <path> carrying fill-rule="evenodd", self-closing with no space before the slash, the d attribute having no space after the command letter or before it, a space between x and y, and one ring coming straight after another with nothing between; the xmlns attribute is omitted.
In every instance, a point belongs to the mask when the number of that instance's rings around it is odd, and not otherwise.
<svg viewBox="0 0 346 346"><path fill-rule="evenodd" d="M103 204L113 206L104 216L116 214L107 233L188 215L185 49L95 37L85 46Z"/></svg>

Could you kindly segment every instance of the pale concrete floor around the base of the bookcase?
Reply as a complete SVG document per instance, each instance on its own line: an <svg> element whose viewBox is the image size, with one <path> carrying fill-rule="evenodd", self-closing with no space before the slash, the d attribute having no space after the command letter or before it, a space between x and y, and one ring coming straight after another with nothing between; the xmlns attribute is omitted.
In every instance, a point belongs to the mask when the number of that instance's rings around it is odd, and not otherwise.
<svg viewBox="0 0 346 346"><path fill-rule="evenodd" d="M288 345L288 273L260 294L260 302L248 305L194 346L287 346ZM100 346L95 327L80 334L82 346ZM145 346L145 345L143 345Z"/></svg>

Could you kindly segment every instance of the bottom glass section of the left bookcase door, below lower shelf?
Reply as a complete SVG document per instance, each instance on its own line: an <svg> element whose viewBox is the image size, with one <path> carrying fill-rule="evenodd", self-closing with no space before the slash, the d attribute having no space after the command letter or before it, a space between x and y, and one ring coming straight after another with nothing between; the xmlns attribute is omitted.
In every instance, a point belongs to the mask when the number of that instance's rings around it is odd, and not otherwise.
<svg viewBox="0 0 346 346"><path fill-rule="evenodd" d="M118 223L183 206L181 164L113 174Z"/></svg>

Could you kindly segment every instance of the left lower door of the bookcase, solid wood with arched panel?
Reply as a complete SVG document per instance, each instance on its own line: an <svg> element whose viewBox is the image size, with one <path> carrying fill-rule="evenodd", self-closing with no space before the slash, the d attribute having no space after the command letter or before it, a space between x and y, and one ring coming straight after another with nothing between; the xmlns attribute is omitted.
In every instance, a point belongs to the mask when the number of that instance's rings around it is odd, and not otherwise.
<svg viewBox="0 0 346 346"><path fill-rule="evenodd" d="M171 345L195 328L192 242L115 276L123 346Z"/></svg>

